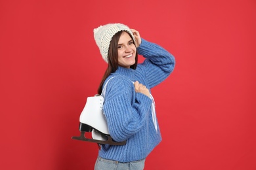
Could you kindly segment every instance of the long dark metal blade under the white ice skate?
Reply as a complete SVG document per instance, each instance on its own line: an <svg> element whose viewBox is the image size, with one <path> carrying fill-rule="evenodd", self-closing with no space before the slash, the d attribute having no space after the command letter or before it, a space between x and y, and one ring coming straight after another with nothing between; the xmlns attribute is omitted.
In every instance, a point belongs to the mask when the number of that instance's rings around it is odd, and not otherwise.
<svg viewBox="0 0 256 170"><path fill-rule="evenodd" d="M91 142L91 143L98 143L98 144L112 144L112 145L125 145L126 141L123 142L115 142L113 141L112 137L107 135L108 140L107 141L100 141L96 139L88 139L85 137L85 132L81 131L81 135L79 137L72 137L71 139L79 140L79 141L86 141L86 142Z"/></svg>

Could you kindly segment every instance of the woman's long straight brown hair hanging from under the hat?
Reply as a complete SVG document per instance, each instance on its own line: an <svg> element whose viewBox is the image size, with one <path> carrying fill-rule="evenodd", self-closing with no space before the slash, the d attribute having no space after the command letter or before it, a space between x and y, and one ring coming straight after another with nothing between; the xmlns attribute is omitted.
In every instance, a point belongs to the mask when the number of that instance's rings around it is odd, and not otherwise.
<svg viewBox="0 0 256 170"><path fill-rule="evenodd" d="M117 45L118 45L118 41L119 38L121 37L121 33L123 31L119 31L117 32L113 37L112 40L110 41L110 47L108 49L108 67L102 77L102 80L100 82L100 86L98 86L98 94L100 94L102 92L102 86L106 80L106 78L108 78L108 76L111 73L114 73L117 68L118 68L118 52L117 52ZM125 31L127 32L127 31ZM128 33L128 32L127 32ZM128 33L129 34L129 33ZM130 35L130 34L129 34ZM131 37L131 35L130 35ZM132 38L132 37L131 37ZM133 39L133 38L132 38ZM135 44L134 40L133 40L133 44ZM138 64L138 52L136 50L136 56L135 56L135 64L131 65L131 69L136 69Z"/></svg>

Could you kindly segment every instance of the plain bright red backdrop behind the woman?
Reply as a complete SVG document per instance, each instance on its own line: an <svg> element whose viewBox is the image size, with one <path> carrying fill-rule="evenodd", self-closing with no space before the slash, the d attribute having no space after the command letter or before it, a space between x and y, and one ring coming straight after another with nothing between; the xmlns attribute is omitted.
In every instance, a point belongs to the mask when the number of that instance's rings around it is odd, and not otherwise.
<svg viewBox="0 0 256 170"><path fill-rule="evenodd" d="M256 169L256 1L0 1L0 169L93 169L79 114L106 63L93 28L121 22L169 50L152 90L163 141L146 169Z"/></svg>

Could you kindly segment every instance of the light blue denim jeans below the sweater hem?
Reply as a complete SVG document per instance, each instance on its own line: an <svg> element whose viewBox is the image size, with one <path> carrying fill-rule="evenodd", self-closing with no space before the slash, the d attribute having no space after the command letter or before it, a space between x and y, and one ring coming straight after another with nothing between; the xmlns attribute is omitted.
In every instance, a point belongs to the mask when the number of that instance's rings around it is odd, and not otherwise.
<svg viewBox="0 0 256 170"><path fill-rule="evenodd" d="M145 160L119 162L113 160L106 160L98 156L95 163L95 170L142 170L144 169Z"/></svg>

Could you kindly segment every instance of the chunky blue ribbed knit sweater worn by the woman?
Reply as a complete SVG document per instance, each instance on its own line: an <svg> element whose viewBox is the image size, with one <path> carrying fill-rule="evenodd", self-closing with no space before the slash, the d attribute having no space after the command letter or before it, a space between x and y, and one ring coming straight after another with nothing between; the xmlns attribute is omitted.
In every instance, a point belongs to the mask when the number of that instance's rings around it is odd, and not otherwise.
<svg viewBox="0 0 256 170"><path fill-rule="evenodd" d="M148 89L163 82L174 69L175 59L158 44L142 39L138 54L146 58L137 69L118 67L106 81L104 114L108 130L115 141L125 141L123 146L102 144L99 156L121 162L142 160L161 141L160 129L152 121L152 99L136 93L133 82L139 81ZM105 83L106 83L105 81Z"/></svg>

